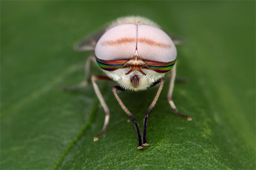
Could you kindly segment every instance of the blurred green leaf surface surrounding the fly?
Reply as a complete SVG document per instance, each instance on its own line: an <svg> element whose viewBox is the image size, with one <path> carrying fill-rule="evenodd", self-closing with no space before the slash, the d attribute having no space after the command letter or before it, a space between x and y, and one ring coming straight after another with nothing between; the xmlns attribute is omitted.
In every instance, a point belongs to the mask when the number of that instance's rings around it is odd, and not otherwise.
<svg viewBox="0 0 256 170"><path fill-rule="evenodd" d="M256 169L255 1L1 1L1 169ZM141 15L186 43L177 47L174 102L169 78L149 117L149 146L99 81L111 110L84 79L90 52L75 42L120 16ZM103 74L96 65L93 74ZM142 129L157 88L121 92Z"/></svg>

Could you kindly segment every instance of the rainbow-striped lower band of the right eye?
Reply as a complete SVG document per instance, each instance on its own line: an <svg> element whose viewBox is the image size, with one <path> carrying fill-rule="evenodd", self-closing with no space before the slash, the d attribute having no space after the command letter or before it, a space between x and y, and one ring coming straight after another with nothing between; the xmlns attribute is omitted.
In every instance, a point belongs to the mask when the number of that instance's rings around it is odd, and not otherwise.
<svg viewBox="0 0 256 170"><path fill-rule="evenodd" d="M173 62L151 62L144 60L144 62L149 66L149 68L151 68L155 72L165 73L169 72L172 69L176 60L174 60Z"/></svg>

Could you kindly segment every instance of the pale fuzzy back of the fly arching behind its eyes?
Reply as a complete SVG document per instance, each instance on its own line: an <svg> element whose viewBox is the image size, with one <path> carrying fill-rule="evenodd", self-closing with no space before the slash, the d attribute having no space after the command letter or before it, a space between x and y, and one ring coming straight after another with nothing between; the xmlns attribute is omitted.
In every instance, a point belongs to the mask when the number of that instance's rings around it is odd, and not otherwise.
<svg viewBox="0 0 256 170"><path fill-rule="evenodd" d="M158 26L154 21L151 21L148 18L144 18L142 16L126 16L126 17L117 18L117 20L113 21L107 27L106 31L113 28L114 26L118 26L121 24L128 24L128 23L132 23L132 24L136 24L136 25L148 24L148 25L160 28L160 26Z"/></svg>

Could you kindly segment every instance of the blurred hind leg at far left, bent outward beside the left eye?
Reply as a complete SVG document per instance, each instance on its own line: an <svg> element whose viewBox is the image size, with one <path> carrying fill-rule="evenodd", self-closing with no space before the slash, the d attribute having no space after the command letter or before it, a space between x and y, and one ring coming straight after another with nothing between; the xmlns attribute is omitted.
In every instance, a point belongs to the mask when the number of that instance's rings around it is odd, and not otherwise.
<svg viewBox="0 0 256 170"><path fill-rule="evenodd" d="M85 63L85 80L80 82L78 85L76 86L63 86L61 87L61 89L65 90L65 91L75 91L75 90L79 90L81 88L84 88L85 86L87 86L88 82L90 81L90 77L91 77L91 63L94 60L95 56L94 54L91 54Z"/></svg>

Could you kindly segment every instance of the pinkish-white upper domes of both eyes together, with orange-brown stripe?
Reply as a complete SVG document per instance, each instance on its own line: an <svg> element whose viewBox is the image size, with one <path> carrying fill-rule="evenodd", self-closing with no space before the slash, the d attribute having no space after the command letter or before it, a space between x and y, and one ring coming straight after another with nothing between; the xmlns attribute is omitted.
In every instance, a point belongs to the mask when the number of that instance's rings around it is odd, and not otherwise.
<svg viewBox="0 0 256 170"><path fill-rule="evenodd" d="M161 29L148 24L121 24L108 30L96 44L98 59L129 60L138 51L145 61L173 62L177 51L171 38Z"/></svg>

